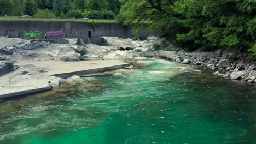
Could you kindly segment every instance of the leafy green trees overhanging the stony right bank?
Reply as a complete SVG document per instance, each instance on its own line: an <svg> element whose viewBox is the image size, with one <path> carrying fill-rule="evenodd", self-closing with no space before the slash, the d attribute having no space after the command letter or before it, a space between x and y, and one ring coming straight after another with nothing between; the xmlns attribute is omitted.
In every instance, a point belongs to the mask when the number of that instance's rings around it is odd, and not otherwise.
<svg viewBox="0 0 256 144"><path fill-rule="evenodd" d="M166 37L189 49L245 49L255 52L256 1L128 0L122 1L125 23L141 29L162 29ZM174 3L172 3L174 2Z"/></svg>

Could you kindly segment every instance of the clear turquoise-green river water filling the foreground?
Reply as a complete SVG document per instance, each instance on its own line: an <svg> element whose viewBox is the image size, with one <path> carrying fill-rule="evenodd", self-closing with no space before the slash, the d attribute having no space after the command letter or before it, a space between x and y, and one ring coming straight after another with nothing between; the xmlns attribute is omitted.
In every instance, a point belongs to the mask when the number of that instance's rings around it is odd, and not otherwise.
<svg viewBox="0 0 256 144"><path fill-rule="evenodd" d="M256 88L150 67L0 104L0 143L256 143Z"/></svg>

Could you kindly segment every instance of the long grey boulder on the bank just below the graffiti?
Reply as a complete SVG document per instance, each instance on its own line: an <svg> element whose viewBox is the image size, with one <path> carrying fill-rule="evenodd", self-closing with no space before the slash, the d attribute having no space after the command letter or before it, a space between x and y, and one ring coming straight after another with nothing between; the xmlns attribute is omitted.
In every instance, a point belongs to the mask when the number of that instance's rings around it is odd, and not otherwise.
<svg viewBox="0 0 256 144"><path fill-rule="evenodd" d="M34 41L33 43L26 44L24 46L19 47L21 50L36 50L48 47L50 45L49 42L46 41Z"/></svg>

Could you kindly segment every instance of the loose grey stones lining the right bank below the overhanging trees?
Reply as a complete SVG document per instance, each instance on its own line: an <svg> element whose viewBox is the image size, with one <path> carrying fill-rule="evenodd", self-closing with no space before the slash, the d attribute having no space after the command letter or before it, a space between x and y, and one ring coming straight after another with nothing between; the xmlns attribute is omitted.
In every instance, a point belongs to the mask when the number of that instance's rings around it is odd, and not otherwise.
<svg viewBox="0 0 256 144"><path fill-rule="evenodd" d="M213 71L226 79L256 83L256 58L240 51L217 50L214 52L154 51L141 52L144 57L168 59L182 64L194 64Z"/></svg>

